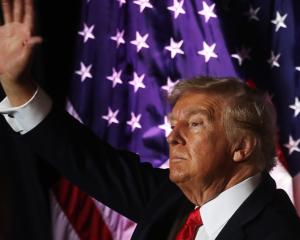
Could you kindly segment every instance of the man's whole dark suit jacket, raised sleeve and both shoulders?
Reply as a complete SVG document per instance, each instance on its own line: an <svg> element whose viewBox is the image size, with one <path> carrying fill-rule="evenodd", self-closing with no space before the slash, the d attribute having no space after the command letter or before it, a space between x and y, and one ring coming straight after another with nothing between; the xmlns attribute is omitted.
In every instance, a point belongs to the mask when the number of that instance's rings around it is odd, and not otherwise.
<svg viewBox="0 0 300 240"><path fill-rule="evenodd" d="M169 181L168 170L113 149L65 112L53 110L18 141L82 190L135 221L132 239L171 239L194 207ZM217 237L222 239L300 239L299 218L284 191L263 174L259 187Z"/></svg>

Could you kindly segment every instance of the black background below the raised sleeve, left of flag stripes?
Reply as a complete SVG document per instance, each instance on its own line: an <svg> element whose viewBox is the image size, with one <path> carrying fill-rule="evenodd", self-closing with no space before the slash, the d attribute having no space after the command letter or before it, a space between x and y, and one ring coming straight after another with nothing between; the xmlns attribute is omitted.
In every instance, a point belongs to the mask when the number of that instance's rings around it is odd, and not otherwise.
<svg viewBox="0 0 300 240"><path fill-rule="evenodd" d="M54 171L15 135L0 116L0 239L50 240L48 193Z"/></svg>

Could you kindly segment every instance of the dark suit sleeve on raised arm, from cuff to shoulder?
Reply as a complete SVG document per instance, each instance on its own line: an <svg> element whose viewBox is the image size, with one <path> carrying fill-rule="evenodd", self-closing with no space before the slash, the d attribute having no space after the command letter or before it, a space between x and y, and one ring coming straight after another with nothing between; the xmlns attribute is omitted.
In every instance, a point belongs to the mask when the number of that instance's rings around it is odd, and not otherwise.
<svg viewBox="0 0 300 240"><path fill-rule="evenodd" d="M140 163L136 154L112 148L64 111L52 110L18 141L83 191L135 222L159 186L170 184L168 170L154 169Z"/></svg>

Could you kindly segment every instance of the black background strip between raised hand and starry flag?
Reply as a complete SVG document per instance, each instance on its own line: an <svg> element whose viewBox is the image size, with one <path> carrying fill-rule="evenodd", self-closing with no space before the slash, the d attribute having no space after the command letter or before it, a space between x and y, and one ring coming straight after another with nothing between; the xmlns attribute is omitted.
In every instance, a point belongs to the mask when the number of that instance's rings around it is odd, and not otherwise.
<svg viewBox="0 0 300 240"><path fill-rule="evenodd" d="M34 73L54 101L63 105L73 76L75 37L81 28L82 0L36 1L37 33L44 39Z"/></svg>

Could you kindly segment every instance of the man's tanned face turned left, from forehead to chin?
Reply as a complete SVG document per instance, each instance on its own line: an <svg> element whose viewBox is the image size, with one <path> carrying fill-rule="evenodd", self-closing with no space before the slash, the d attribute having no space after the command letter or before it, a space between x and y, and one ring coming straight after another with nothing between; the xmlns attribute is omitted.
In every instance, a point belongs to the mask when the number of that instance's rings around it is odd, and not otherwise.
<svg viewBox="0 0 300 240"><path fill-rule="evenodd" d="M189 91L171 114L170 179L181 187L208 188L232 170L220 97Z"/></svg>

